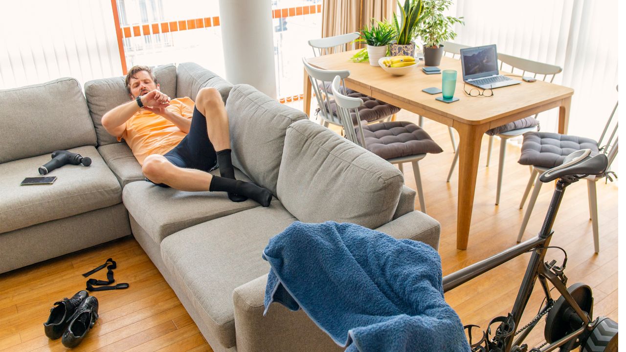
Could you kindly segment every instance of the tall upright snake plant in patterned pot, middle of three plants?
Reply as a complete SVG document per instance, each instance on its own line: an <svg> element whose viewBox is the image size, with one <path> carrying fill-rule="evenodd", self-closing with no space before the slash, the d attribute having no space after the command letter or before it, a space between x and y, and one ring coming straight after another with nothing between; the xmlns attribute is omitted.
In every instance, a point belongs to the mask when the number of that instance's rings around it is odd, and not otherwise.
<svg viewBox="0 0 626 352"><path fill-rule="evenodd" d="M413 56L415 53L415 43L413 38L419 27L419 21L422 13L422 0L404 0L404 6L400 4L400 21L398 16L393 14L393 23L396 27L396 43L391 44L389 50L391 56L408 55Z"/></svg>

